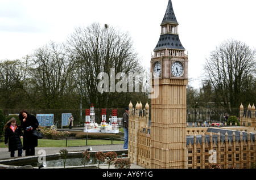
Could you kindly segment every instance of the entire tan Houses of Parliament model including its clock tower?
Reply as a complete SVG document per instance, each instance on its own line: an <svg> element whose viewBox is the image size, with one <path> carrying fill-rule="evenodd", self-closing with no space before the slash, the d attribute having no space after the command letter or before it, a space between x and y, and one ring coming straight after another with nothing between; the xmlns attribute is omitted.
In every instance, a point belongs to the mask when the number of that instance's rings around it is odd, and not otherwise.
<svg viewBox="0 0 256 180"><path fill-rule="evenodd" d="M243 126L187 127L188 57L178 25L169 0L151 58L152 84L158 80L158 97L151 99L151 109L148 104L143 108L141 102L135 108L129 104L131 163L151 169L207 169L212 164L250 168L256 162L254 105L247 113L240 107Z"/></svg>

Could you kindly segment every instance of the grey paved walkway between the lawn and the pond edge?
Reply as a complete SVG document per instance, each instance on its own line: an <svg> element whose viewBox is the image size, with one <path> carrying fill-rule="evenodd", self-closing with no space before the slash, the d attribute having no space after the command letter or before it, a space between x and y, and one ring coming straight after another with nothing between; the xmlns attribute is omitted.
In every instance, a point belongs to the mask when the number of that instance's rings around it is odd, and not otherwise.
<svg viewBox="0 0 256 180"><path fill-rule="evenodd" d="M42 154L38 155L38 151L40 149L44 149L46 151L46 155L53 155L53 154L59 154L59 151L61 149L67 149L68 152L81 152L85 151L86 149L92 147L92 151L117 151L117 150L122 150L123 149L123 144L109 144L109 145L88 145L88 146L79 146L79 147L59 147L59 148L53 148L53 147L47 147L47 148L42 148L42 147L36 147L35 148L35 155L39 156ZM15 157L18 155L18 151L15 151ZM23 151L23 157L24 157L24 151ZM8 152L8 148L0 148L0 160L7 160L10 159L10 152ZM1 165L0 165L1 166ZM107 169L108 166L101 166L102 169ZM114 166L110 166L110 168L114 168ZM134 164L131 164L131 169L142 169L141 166L137 166Z"/></svg>

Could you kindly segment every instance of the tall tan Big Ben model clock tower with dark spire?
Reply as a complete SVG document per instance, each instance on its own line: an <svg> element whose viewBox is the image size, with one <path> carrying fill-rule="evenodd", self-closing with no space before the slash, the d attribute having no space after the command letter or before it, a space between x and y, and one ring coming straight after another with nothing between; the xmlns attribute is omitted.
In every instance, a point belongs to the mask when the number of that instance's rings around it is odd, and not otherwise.
<svg viewBox="0 0 256 180"><path fill-rule="evenodd" d="M151 99L152 169L187 168L188 58L177 33L178 25L169 0L151 58L152 89L158 91L158 96ZM154 87L156 79L158 89Z"/></svg>

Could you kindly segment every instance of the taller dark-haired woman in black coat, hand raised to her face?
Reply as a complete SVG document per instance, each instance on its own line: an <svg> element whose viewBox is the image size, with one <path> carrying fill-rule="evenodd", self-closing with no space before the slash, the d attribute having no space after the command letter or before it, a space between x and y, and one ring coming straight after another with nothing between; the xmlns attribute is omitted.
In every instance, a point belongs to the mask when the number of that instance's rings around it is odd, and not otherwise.
<svg viewBox="0 0 256 180"><path fill-rule="evenodd" d="M32 135L33 131L38 128L38 119L34 115L28 114L25 110L19 112L21 127L24 130L23 149L26 151L26 156L35 155L35 147L38 146L38 138Z"/></svg>

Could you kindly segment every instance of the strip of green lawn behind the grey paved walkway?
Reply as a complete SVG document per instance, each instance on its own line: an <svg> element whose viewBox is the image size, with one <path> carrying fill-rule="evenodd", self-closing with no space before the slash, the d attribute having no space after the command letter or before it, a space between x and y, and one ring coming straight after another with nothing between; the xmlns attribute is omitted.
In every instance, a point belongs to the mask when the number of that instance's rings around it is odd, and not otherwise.
<svg viewBox="0 0 256 180"><path fill-rule="evenodd" d="M112 144L111 140L87 140L87 145ZM123 144L123 141L113 140L113 144ZM67 147L86 145L86 139L68 140ZM5 142L0 142L0 148L7 148ZM66 147L66 140L38 139L38 147Z"/></svg>

